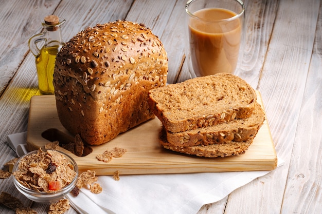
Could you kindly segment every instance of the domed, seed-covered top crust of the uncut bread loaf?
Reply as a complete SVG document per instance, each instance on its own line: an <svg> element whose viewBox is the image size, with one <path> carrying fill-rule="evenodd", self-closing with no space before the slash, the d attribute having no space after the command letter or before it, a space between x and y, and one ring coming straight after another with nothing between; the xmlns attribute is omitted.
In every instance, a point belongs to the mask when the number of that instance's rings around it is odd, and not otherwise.
<svg viewBox="0 0 322 214"><path fill-rule="evenodd" d="M134 78L159 79L160 85L166 84L163 82L166 75L152 77L152 69L151 73L136 76L138 71L133 70L134 66L138 66L137 70L148 67L168 70L167 53L158 37L144 24L116 21L77 33L57 54L55 71L75 78L86 93L92 94L109 87L111 79L120 78L118 88L121 89L129 87L122 80ZM113 94L117 91L115 87ZM95 97L102 99L102 96Z"/></svg>

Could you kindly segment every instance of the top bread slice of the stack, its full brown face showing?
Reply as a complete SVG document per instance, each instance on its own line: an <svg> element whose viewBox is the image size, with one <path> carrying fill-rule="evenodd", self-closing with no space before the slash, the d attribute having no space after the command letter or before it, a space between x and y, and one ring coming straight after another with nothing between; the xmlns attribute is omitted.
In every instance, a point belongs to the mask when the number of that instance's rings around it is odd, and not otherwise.
<svg viewBox="0 0 322 214"><path fill-rule="evenodd" d="M196 77L149 91L148 104L170 132L182 132L251 116L256 93L229 73Z"/></svg>

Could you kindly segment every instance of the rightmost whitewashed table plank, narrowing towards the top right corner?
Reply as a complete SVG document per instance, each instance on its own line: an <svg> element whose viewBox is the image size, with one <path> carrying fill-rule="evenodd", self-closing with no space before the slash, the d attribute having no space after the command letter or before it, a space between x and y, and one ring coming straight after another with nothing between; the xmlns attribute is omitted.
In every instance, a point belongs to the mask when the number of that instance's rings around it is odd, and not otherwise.
<svg viewBox="0 0 322 214"><path fill-rule="evenodd" d="M281 213L322 212L322 7L300 107ZM315 24L312 23L314 26ZM308 160L308 157L310 159ZM293 196L298 196L293 198Z"/></svg>

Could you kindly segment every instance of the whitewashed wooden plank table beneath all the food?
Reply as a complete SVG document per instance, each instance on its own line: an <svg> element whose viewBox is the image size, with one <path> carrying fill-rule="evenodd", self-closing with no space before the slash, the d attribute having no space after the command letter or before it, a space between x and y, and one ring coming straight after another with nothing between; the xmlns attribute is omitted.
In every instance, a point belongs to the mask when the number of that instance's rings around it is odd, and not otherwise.
<svg viewBox="0 0 322 214"><path fill-rule="evenodd" d="M7 135L27 130L29 101L39 95L28 38L55 14L67 41L87 26L145 23L165 45L168 83L189 78L184 55L185 1L0 1L0 167L15 157ZM282 167L198 213L322 213L322 3L245 1L246 40L236 74L262 94ZM0 191L24 200L12 178ZM47 205L26 202L39 213ZM14 213L0 205L1 213ZM69 209L67 213L76 213Z"/></svg>

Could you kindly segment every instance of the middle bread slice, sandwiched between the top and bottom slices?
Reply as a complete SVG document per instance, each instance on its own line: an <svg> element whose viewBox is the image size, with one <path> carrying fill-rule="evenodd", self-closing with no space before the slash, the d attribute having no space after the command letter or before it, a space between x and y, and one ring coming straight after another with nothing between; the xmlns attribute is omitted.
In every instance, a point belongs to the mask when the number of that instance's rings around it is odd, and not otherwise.
<svg viewBox="0 0 322 214"><path fill-rule="evenodd" d="M228 123L197 128L184 132L167 131L167 141L174 146L198 146L222 144L230 141L246 141L257 134L265 120L265 113L260 104L255 105L251 117L235 119Z"/></svg>

